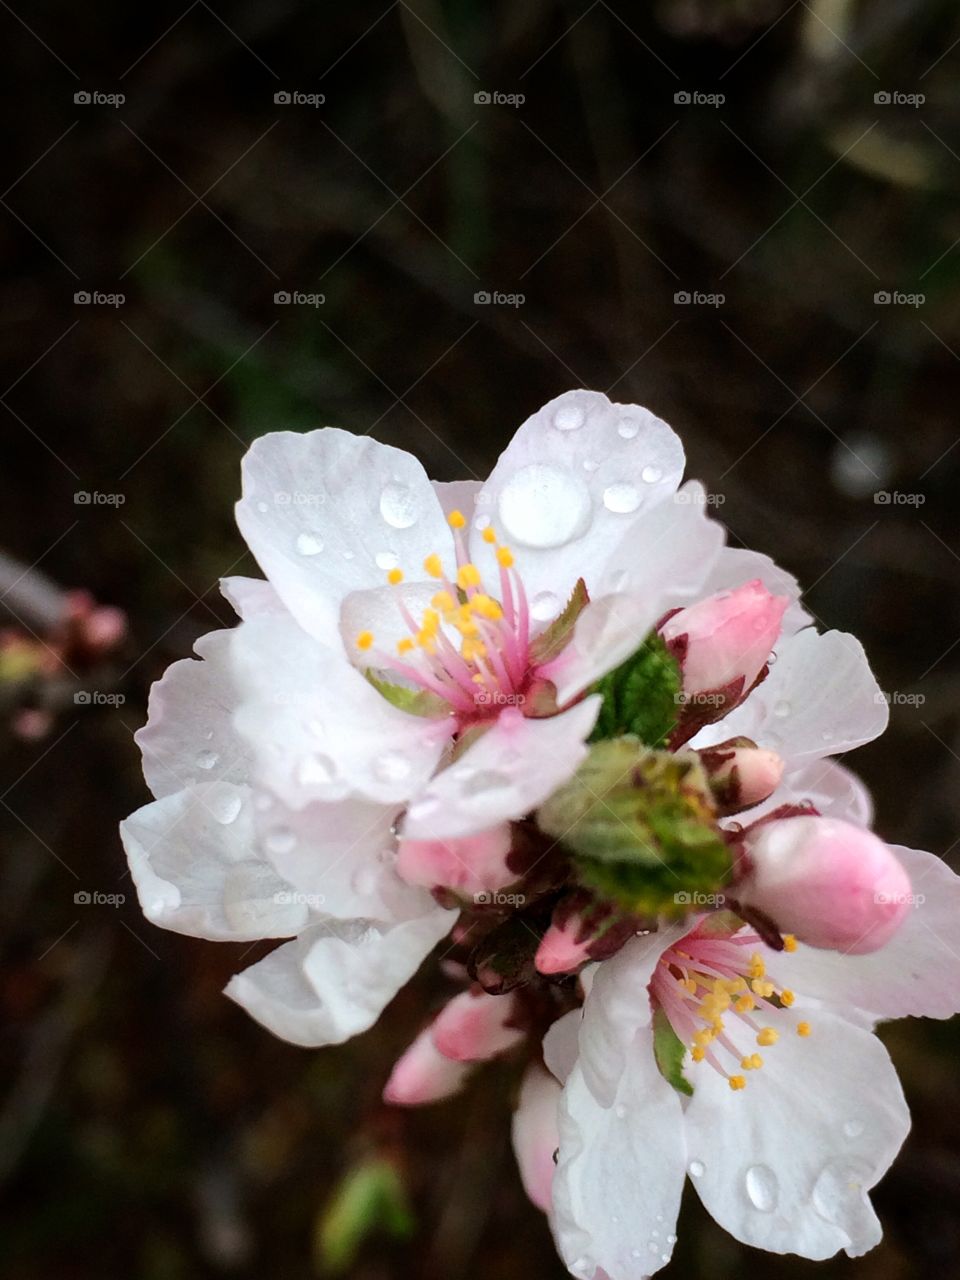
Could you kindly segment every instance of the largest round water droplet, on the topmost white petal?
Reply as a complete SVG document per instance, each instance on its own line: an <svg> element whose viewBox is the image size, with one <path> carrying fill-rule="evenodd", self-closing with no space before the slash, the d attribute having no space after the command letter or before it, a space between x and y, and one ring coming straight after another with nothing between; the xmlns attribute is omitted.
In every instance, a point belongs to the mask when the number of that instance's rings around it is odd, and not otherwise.
<svg viewBox="0 0 960 1280"><path fill-rule="evenodd" d="M509 477L497 509L507 538L525 547L563 547L589 525L591 503L579 476L532 462Z"/></svg>

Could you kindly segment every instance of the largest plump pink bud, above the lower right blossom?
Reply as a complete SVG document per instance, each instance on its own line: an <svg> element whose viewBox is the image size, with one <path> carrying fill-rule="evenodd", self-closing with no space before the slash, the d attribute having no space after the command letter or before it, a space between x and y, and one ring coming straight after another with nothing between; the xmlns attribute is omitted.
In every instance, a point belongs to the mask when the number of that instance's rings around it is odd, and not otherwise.
<svg viewBox="0 0 960 1280"><path fill-rule="evenodd" d="M762 820L746 832L744 847L737 900L812 947L877 951L910 909L910 879L893 851L852 823Z"/></svg>

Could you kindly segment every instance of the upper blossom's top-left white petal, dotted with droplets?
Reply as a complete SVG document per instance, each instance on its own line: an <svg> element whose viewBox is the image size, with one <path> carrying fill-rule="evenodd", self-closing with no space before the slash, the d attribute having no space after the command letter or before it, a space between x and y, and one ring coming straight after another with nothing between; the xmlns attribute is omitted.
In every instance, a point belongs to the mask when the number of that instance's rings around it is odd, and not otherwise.
<svg viewBox="0 0 960 1280"><path fill-rule="evenodd" d="M426 556L452 552L416 458L335 428L256 440L237 524L287 608L320 637L344 595L383 581L383 564L419 572Z"/></svg>

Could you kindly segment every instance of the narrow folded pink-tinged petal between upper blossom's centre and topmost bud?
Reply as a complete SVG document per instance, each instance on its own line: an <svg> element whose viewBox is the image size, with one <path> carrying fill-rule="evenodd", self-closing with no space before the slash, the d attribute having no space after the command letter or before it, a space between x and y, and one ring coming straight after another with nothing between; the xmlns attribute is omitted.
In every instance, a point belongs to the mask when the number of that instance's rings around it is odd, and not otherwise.
<svg viewBox="0 0 960 1280"><path fill-rule="evenodd" d="M634 653L663 614L699 590L723 545L696 483L644 509L608 557L573 639L548 667L561 705Z"/></svg>

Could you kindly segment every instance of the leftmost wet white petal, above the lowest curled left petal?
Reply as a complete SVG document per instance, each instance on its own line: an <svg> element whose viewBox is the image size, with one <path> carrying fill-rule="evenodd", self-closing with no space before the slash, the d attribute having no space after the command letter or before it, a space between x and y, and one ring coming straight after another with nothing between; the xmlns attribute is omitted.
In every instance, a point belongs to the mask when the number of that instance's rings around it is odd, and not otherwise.
<svg viewBox="0 0 960 1280"><path fill-rule="evenodd" d="M250 791L206 782L120 823L133 883L154 924L236 942L285 938L307 908L256 852Z"/></svg>

